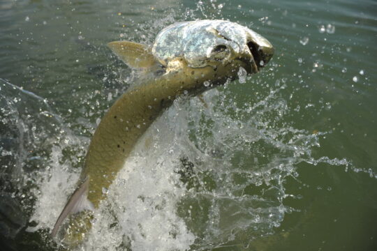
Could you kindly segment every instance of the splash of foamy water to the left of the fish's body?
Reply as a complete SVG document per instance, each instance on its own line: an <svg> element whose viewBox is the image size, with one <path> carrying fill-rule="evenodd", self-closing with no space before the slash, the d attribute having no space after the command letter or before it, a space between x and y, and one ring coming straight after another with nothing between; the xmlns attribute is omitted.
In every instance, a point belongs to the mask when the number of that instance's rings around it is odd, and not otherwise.
<svg viewBox="0 0 377 251"><path fill-rule="evenodd" d="M2 192L22 205L28 231L49 229L72 192L87 146L55 114L47 100L0 79ZM52 199L54 198L54 199ZM23 226L26 227L26 226Z"/></svg>

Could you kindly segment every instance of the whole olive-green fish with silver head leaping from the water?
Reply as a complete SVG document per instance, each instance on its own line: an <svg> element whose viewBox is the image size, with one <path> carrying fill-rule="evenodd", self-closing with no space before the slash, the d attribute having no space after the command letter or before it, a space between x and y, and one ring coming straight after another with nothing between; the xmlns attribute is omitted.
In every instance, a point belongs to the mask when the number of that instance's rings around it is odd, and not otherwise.
<svg viewBox="0 0 377 251"><path fill-rule="evenodd" d="M131 68L142 69L142 83L124 93L105 114L91 139L77 189L52 229L69 215L66 243L80 243L91 228L94 208L151 123L182 95L195 96L238 78L240 68L258 73L274 47L251 29L224 20L172 24L152 46L115 41L108 47Z"/></svg>

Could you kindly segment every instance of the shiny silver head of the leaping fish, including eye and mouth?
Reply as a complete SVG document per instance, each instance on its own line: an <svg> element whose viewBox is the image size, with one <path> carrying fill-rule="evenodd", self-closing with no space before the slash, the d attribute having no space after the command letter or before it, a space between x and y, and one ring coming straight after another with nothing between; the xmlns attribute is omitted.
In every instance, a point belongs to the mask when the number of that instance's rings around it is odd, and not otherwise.
<svg viewBox="0 0 377 251"><path fill-rule="evenodd" d="M189 68L224 68L237 77L239 67L258 73L274 54L266 38L240 24L224 20L200 20L172 24L156 36L151 48L155 58L169 70L176 59Z"/></svg>

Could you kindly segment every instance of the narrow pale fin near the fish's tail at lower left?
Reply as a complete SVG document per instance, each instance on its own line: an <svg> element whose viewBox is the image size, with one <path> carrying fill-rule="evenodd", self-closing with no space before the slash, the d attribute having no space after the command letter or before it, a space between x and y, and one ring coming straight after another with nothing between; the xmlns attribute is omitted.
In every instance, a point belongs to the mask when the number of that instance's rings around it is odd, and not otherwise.
<svg viewBox="0 0 377 251"><path fill-rule="evenodd" d="M54 228L52 229L51 236L54 237L57 235L59 227L72 213L77 213L84 210L94 211L94 206L91 204L91 201L88 199L89 191L89 178L86 178L85 181L73 192L73 195L68 199L66 206L64 206L63 211L61 211L57 222L55 222Z"/></svg>

